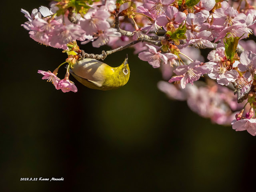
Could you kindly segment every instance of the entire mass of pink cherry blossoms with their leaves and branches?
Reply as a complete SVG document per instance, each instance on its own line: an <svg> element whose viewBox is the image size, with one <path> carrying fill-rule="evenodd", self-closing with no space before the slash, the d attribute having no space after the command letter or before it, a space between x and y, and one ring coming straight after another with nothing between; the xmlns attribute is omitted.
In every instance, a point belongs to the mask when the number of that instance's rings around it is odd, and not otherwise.
<svg viewBox="0 0 256 192"><path fill-rule="evenodd" d="M252 0L56 0L50 9L22 9L28 19L22 26L35 41L68 54L64 79L56 76L64 63L53 73L38 70L56 89L77 91L69 80L70 67L83 58L76 41L107 44L112 52L131 45L141 60L162 69L168 82L158 87L170 98L255 136L256 43L244 41L256 31L255 6ZM204 48L212 49L208 62Z"/></svg>

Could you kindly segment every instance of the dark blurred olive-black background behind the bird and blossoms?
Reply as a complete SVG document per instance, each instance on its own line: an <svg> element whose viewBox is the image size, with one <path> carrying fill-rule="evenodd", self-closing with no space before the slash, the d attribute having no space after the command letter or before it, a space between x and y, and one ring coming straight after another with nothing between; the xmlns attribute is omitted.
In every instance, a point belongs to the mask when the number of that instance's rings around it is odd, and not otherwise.
<svg viewBox="0 0 256 192"><path fill-rule="evenodd" d="M20 9L47 4L1 3L1 191L255 191L256 138L168 100L156 87L160 70L132 50L105 60L118 66L129 55L130 80L118 90L71 77L78 92L63 93L42 80L37 70L53 71L66 55L32 40Z"/></svg>

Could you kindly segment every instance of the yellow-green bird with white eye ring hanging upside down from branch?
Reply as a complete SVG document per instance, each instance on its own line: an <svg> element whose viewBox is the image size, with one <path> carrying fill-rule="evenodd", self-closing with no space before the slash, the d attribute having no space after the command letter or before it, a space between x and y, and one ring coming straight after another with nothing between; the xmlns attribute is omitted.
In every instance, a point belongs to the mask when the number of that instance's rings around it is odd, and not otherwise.
<svg viewBox="0 0 256 192"><path fill-rule="evenodd" d="M96 59L85 58L72 65L70 74L84 86L98 90L113 90L124 86L130 78L128 55L118 67Z"/></svg>

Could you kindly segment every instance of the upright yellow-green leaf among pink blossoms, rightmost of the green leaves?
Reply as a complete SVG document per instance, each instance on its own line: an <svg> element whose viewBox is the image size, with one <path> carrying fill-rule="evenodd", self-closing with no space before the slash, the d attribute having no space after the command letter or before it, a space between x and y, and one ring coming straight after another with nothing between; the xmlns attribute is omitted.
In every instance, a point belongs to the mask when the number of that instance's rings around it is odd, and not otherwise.
<svg viewBox="0 0 256 192"><path fill-rule="evenodd" d="M230 34L230 33L228 33L228 34ZM228 36L228 34L226 36ZM236 48L238 45L238 41L241 37L233 37L233 36L231 36L229 38L225 37L225 41L226 41L226 42L224 41L225 55L228 59L232 60L234 58L234 56L236 54Z"/></svg>

